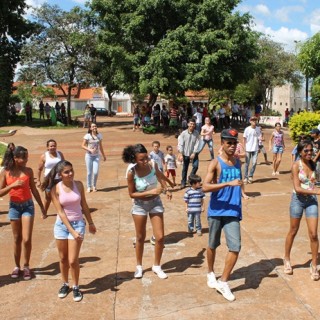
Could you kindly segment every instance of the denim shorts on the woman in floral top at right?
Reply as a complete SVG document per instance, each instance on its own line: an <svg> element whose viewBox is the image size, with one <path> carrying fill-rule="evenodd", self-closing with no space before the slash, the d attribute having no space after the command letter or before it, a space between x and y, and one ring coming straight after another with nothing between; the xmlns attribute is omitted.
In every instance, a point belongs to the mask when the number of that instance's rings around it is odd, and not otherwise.
<svg viewBox="0 0 320 320"><path fill-rule="evenodd" d="M303 210L306 218L318 218L318 199L315 195L292 193L290 202L290 217L301 218Z"/></svg>

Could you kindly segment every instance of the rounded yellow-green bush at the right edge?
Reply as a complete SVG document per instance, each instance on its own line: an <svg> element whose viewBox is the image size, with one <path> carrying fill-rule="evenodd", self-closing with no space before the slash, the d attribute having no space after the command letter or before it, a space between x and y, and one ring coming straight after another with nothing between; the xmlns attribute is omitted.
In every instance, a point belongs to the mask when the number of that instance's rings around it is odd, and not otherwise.
<svg viewBox="0 0 320 320"><path fill-rule="evenodd" d="M289 120L290 137L298 142L301 134L309 134L320 124L320 112L300 112L294 114Z"/></svg>

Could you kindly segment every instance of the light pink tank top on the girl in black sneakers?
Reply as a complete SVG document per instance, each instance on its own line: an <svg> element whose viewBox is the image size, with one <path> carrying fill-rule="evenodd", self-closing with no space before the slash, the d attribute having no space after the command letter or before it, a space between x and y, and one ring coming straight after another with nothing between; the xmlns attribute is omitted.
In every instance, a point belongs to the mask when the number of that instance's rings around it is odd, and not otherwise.
<svg viewBox="0 0 320 320"><path fill-rule="evenodd" d="M83 220L81 208L81 195L75 182L71 192L65 192L62 187L62 181L58 182L59 202L67 215L69 221ZM58 219L59 216L58 216Z"/></svg>

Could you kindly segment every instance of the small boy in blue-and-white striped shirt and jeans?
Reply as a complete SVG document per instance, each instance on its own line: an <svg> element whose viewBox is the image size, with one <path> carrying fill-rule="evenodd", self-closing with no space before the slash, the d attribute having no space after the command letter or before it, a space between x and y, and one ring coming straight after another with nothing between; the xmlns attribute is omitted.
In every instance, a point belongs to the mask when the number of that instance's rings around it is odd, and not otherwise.
<svg viewBox="0 0 320 320"><path fill-rule="evenodd" d="M197 231L198 236L202 236L201 212L203 212L203 202L205 194L201 188L201 177L190 175L190 188L184 194L186 212L188 214L188 233ZM194 226L195 224L195 226Z"/></svg>

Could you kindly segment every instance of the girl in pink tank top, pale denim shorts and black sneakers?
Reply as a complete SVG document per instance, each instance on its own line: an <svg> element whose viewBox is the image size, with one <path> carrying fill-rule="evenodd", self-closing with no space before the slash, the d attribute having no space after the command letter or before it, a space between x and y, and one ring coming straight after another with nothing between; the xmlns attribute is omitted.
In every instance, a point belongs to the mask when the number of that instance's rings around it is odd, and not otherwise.
<svg viewBox="0 0 320 320"><path fill-rule="evenodd" d="M61 182L55 184L56 175ZM54 237L60 257L60 271L62 287L58 292L59 298L65 298L69 291L69 269L73 280L73 300L82 300L79 290L79 252L85 233L85 221L89 224L89 232L95 233L96 227L92 221L91 213L86 201L82 182L75 181L72 164L63 160L58 162L46 177L44 185L51 189L52 202L58 211L54 226ZM83 213L83 214L82 214Z"/></svg>

